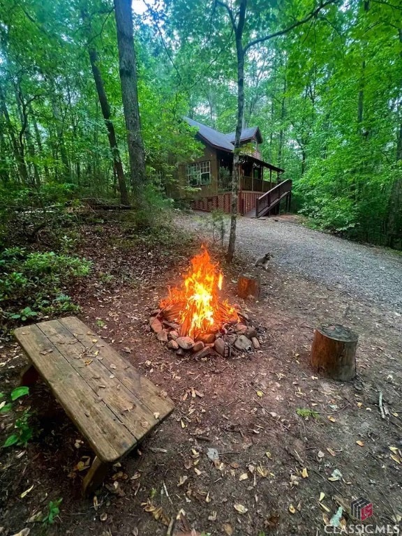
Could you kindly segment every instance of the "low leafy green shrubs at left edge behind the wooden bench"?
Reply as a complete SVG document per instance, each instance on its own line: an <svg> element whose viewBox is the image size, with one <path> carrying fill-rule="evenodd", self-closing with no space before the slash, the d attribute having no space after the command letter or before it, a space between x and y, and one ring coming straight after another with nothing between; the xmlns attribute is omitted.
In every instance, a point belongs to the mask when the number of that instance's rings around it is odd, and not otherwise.
<svg viewBox="0 0 402 536"><path fill-rule="evenodd" d="M77 311L64 285L72 278L87 276L90 270L91 262L70 255L5 249L0 255L3 318L26 322L42 315Z"/></svg>

